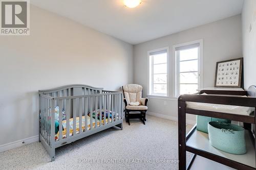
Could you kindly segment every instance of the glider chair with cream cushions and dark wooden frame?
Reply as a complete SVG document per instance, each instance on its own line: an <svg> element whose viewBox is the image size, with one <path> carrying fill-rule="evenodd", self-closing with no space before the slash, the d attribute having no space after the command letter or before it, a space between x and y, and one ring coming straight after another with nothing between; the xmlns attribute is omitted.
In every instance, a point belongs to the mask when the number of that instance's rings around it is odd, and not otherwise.
<svg viewBox="0 0 256 170"><path fill-rule="evenodd" d="M125 103L125 120L130 125L131 118L139 118L145 125L147 98L142 98L142 86L138 84L127 84L122 86ZM130 112L140 112L132 113Z"/></svg>

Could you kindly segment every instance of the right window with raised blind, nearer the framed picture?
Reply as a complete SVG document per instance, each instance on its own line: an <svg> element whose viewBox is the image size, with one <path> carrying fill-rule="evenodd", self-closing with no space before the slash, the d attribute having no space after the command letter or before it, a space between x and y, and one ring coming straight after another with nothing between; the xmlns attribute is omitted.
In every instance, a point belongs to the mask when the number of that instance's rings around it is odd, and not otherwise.
<svg viewBox="0 0 256 170"><path fill-rule="evenodd" d="M200 86L200 42L175 47L176 95L193 94Z"/></svg>

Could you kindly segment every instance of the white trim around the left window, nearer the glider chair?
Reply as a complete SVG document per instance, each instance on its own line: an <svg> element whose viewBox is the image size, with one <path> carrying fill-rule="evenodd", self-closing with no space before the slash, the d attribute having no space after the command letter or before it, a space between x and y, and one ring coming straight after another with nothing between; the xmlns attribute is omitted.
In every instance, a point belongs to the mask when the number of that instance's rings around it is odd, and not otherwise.
<svg viewBox="0 0 256 170"><path fill-rule="evenodd" d="M167 82L166 82L166 86L167 86L167 93L166 95L162 95L162 94L151 94L151 87L152 87L152 84L150 85L150 79L151 79L151 76L152 76L152 72L150 70L150 53L154 53L154 52L158 52L158 51L163 51L163 50L166 50L167 51ZM158 48L158 49L155 49L155 50L151 50L151 51L147 51L147 94L151 95L151 96L164 96L164 97L168 97L170 96L170 90L169 90L169 87L170 87L170 69L169 69L169 66L171 65L170 64L170 56L169 56L169 47L162 47L162 48Z"/></svg>

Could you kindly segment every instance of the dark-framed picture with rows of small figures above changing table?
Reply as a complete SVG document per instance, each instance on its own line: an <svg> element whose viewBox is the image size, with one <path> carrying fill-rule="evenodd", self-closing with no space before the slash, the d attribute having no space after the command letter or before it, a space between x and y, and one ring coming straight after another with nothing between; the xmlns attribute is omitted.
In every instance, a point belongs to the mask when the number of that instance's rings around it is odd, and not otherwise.
<svg viewBox="0 0 256 170"><path fill-rule="evenodd" d="M216 63L215 87L241 88L243 58L219 61Z"/></svg>

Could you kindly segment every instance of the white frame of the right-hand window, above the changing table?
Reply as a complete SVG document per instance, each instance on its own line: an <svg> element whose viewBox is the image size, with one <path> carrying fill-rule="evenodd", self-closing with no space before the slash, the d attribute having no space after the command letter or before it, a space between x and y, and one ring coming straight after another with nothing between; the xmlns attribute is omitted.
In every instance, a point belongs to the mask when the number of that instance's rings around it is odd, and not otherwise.
<svg viewBox="0 0 256 170"><path fill-rule="evenodd" d="M185 43L180 43L173 45L173 60L174 60L174 65L173 65L173 93L175 97L178 97L180 95L180 79L179 79L179 56L176 56L176 48L177 47L183 47L187 45L193 45L199 43L199 54L198 54L198 88L203 87L203 39L200 40L195 40L195 41L190 41L190 42L185 42Z"/></svg>

